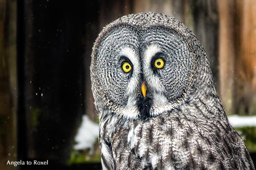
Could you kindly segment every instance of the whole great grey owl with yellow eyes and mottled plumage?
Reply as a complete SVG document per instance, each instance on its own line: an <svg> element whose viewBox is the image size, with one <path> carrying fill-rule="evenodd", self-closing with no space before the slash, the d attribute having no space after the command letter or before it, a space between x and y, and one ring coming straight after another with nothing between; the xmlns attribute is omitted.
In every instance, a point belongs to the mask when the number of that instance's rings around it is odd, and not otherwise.
<svg viewBox="0 0 256 170"><path fill-rule="evenodd" d="M103 170L255 169L183 23L154 12L115 20L90 70Z"/></svg>

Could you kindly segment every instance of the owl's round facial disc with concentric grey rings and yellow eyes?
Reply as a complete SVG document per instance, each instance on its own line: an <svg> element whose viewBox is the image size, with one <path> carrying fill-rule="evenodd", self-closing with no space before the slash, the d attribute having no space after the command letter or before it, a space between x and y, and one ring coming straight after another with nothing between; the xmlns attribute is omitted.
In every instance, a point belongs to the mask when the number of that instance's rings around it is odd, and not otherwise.
<svg viewBox="0 0 256 170"><path fill-rule="evenodd" d="M164 113L188 91L192 57L170 28L118 25L98 45L95 76L114 113L148 118Z"/></svg>

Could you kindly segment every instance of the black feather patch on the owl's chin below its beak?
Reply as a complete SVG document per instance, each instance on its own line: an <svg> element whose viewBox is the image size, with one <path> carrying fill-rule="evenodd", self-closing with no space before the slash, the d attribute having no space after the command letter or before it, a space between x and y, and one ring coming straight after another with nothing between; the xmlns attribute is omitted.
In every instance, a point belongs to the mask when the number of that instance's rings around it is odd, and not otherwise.
<svg viewBox="0 0 256 170"><path fill-rule="evenodd" d="M149 97L143 97L142 95L139 95L137 100L137 107L139 109L140 115L139 117L141 119L146 119L150 117L150 107L152 104L152 100Z"/></svg>

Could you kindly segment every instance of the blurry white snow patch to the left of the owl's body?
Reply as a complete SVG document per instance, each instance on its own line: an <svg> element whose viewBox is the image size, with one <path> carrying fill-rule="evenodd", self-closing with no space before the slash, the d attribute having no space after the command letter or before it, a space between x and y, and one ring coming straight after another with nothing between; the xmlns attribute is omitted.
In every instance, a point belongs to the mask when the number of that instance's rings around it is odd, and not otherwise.
<svg viewBox="0 0 256 170"><path fill-rule="evenodd" d="M82 123L78 129L78 133L75 136L75 142L77 143L74 148L82 150L90 148L93 150L93 144L98 137L98 125L92 122L87 115L83 115Z"/></svg>

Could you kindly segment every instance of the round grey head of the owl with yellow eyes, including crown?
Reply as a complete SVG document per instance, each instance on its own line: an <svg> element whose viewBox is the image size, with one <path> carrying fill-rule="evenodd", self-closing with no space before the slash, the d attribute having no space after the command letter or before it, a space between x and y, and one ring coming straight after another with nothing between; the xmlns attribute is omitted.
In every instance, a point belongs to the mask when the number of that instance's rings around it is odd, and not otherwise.
<svg viewBox="0 0 256 170"><path fill-rule="evenodd" d="M213 89L205 51L174 18L155 12L123 16L94 44L92 91L99 114L146 119L177 108L188 94ZM215 90L214 90L215 91Z"/></svg>

